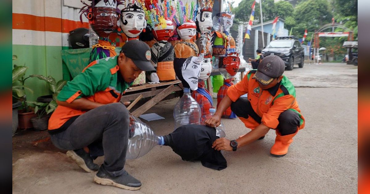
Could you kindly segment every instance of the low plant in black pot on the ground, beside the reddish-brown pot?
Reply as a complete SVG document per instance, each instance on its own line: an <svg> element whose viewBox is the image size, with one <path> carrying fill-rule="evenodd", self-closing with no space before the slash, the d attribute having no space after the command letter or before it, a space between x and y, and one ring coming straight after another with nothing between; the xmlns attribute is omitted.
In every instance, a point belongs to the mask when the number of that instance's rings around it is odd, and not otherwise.
<svg viewBox="0 0 370 194"><path fill-rule="evenodd" d="M36 117L31 118L31 123L35 131L46 130L48 126L49 117L47 116L57 108L57 102L51 101L48 103L28 101L35 105L34 113Z"/></svg>

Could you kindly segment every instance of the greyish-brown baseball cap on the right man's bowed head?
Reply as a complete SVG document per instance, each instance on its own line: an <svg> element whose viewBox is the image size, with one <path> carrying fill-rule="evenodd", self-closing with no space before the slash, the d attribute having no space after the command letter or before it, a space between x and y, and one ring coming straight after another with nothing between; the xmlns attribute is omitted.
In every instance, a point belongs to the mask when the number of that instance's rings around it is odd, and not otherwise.
<svg viewBox="0 0 370 194"><path fill-rule="evenodd" d="M283 59L276 55L269 55L262 59L257 67L256 74L252 77L262 85L269 85L273 79L283 75L285 64Z"/></svg>

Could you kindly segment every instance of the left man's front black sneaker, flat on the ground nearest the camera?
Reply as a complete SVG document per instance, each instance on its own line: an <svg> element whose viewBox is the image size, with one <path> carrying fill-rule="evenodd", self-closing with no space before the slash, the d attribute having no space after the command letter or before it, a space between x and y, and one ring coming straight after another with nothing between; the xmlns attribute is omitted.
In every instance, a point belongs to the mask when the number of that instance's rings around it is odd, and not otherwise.
<svg viewBox="0 0 370 194"><path fill-rule="evenodd" d="M104 169L103 165L100 166L98 173L96 173L94 181L98 184L110 185L127 190L139 190L141 188L140 181L129 175L126 171L121 176L114 177Z"/></svg>

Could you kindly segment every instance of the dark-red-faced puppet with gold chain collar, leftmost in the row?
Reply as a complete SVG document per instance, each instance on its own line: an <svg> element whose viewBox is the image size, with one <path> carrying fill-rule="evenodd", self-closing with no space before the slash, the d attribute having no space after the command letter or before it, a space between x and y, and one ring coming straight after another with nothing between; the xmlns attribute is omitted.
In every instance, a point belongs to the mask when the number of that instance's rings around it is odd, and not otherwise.
<svg viewBox="0 0 370 194"><path fill-rule="evenodd" d="M108 41L109 35L117 29L117 20L121 16L118 5L121 0L89 0L88 5L81 1L85 6L80 10L80 20L82 15L88 18L92 30L99 36L98 44L92 46L90 62L105 57L117 55L115 47Z"/></svg>

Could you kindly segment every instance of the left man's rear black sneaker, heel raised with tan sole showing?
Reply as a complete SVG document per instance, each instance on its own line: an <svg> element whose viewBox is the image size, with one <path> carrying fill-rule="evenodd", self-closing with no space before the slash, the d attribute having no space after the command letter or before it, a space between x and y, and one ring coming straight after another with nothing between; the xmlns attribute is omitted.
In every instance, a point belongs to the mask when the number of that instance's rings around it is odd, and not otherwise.
<svg viewBox="0 0 370 194"><path fill-rule="evenodd" d="M99 170L99 165L94 164L90 154L85 152L84 149L68 150L66 154L88 173Z"/></svg>

